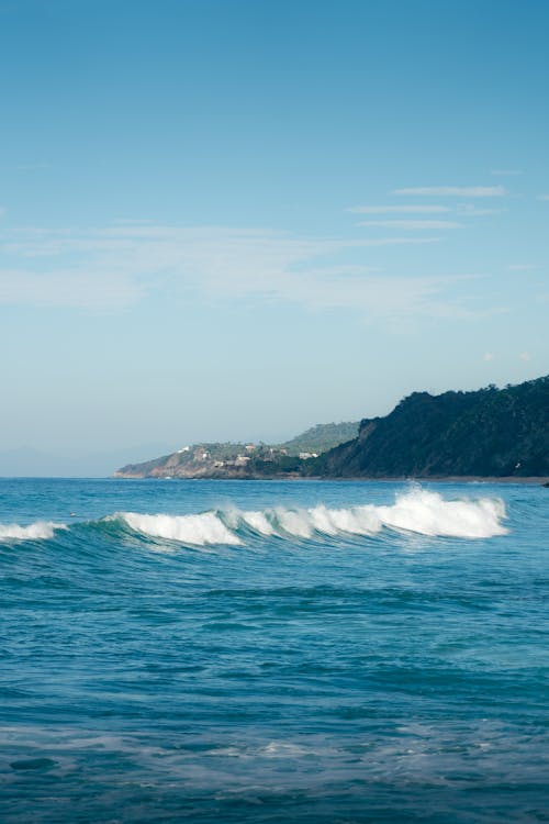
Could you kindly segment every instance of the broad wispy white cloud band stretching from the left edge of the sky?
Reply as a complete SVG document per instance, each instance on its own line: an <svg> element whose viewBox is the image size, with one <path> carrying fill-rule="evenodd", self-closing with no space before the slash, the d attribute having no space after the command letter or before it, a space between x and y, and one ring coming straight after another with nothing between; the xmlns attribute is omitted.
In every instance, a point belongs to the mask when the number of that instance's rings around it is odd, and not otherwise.
<svg viewBox="0 0 549 824"><path fill-rule="evenodd" d="M117 310L155 293L183 303L249 298L352 310L396 325L418 316L467 320L498 311L471 307L462 293L464 276L389 276L368 265L370 248L437 240L347 241L133 223L12 230L0 236L9 260L0 269L0 302ZM351 250L363 261L350 265Z"/></svg>

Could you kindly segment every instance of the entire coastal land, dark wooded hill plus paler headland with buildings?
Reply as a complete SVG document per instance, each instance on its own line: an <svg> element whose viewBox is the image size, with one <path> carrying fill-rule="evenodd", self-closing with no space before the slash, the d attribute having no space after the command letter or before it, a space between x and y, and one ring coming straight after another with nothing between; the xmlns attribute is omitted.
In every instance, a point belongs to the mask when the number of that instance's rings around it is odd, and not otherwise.
<svg viewBox="0 0 549 824"><path fill-rule="evenodd" d="M358 428L358 432L357 432ZM119 478L545 478L549 376L497 389L413 392L384 417L317 425L287 444L195 444Z"/></svg>

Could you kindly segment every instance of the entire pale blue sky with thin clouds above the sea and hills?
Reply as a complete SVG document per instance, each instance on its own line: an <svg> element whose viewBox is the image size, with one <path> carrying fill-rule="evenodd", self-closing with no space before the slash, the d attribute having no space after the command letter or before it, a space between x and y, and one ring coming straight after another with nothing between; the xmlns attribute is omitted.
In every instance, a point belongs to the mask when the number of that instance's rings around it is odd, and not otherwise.
<svg viewBox="0 0 549 824"><path fill-rule="evenodd" d="M537 0L0 0L10 474L546 375L548 36Z"/></svg>

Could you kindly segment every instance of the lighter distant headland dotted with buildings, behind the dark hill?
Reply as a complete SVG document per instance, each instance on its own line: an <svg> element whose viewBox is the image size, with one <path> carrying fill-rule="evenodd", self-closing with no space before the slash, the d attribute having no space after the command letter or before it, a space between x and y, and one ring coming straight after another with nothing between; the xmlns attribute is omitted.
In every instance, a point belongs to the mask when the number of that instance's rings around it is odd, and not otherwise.
<svg viewBox="0 0 549 824"><path fill-rule="evenodd" d="M249 478L299 471L303 461L355 437L357 423L317 424L283 444L201 443L143 463L117 478ZM301 456L301 457L300 457Z"/></svg>

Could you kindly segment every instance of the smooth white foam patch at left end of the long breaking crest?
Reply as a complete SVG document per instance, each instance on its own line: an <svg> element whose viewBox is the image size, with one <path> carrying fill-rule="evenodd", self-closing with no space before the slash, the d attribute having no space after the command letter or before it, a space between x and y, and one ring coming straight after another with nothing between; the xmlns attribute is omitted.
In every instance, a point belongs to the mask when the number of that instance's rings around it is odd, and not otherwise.
<svg viewBox="0 0 549 824"><path fill-rule="evenodd" d="M122 512L121 516L132 530L153 537L180 541L195 546L242 544L242 541L225 526L215 512L194 515L141 515L137 512Z"/></svg>

